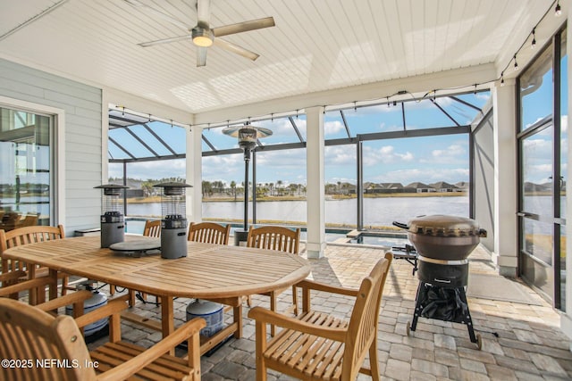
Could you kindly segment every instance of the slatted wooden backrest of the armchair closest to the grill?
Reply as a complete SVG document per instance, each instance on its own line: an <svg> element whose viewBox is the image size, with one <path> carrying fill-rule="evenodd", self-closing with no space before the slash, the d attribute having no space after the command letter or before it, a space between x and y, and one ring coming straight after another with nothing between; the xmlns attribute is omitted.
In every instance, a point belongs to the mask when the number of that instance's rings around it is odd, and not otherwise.
<svg viewBox="0 0 572 381"><path fill-rule="evenodd" d="M362 364L374 340L377 340L377 323L382 302L383 286L390 269L391 253L378 261L369 276L362 280L356 303L349 319L346 349L342 364L341 379L356 379L359 364Z"/></svg>

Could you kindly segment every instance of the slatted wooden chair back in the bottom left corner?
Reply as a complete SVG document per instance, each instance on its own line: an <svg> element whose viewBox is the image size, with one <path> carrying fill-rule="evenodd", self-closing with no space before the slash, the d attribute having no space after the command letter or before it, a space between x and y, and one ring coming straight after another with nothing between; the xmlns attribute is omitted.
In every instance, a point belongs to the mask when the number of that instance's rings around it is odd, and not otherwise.
<svg viewBox="0 0 572 381"><path fill-rule="evenodd" d="M71 316L55 318L28 304L0 298L0 343L4 343L0 345L3 359L33 361L25 368L0 368L0 379L96 379L95 370L85 366L90 359L88 348Z"/></svg>

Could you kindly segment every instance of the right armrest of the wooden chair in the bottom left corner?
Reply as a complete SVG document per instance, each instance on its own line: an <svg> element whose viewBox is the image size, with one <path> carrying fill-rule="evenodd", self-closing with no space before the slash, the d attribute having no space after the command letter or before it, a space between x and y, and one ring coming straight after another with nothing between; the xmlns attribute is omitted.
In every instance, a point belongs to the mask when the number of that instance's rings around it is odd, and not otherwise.
<svg viewBox="0 0 572 381"><path fill-rule="evenodd" d="M185 339L193 335L198 335L202 328L206 327L206 321L202 318L189 320L181 327L177 328L171 335L164 337L163 340L140 353L136 357L123 362L114 369L109 369L105 373L99 374L99 381L114 381L118 379L126 379L133 376L140 369L147 367L151 362L169 352L172 348L181 344ZM189 349L190 350L190 349ZM196 348L198 351L198 348ZM189 356L191 354L189 353Z"/></svg>

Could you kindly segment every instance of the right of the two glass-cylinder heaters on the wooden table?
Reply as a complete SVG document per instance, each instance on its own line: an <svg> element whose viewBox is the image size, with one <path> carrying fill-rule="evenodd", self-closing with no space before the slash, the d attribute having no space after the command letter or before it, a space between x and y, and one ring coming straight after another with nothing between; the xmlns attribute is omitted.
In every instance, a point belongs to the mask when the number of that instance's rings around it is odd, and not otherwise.
<svg viewBox="0 0 572 381"><path fill-rule="evenodd" d="M185 183L161 183L161 257L174 260L187 256Z"/></svg>

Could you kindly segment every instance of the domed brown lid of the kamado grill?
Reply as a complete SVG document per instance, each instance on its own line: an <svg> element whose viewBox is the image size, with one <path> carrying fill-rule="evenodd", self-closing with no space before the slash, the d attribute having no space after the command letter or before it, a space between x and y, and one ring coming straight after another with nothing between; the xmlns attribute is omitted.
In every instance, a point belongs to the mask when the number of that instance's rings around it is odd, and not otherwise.
<svg viewBox="0 0 572 381"><path fill-rule="evenodd" d="M423 236L486 236L474 219L442 214L411 219L408 231Z"/></svg>

